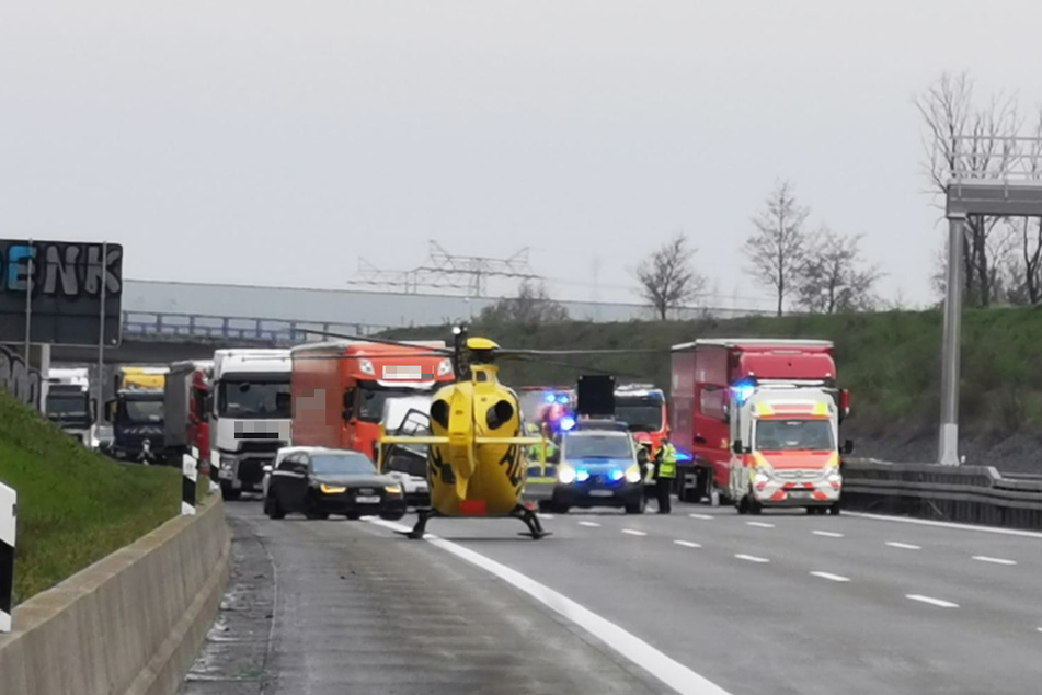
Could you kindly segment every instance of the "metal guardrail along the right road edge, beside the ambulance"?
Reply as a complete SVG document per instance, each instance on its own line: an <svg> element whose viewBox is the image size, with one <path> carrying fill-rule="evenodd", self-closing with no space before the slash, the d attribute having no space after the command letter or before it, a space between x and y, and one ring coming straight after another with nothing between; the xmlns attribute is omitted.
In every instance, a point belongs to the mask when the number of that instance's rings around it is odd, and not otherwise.
<svg viewBox="0 0 1042 695"><path fill-rule="evenodd" d="M843 499L862 511L1042 529L1042 477L991 466L844 463Z"/></svg>

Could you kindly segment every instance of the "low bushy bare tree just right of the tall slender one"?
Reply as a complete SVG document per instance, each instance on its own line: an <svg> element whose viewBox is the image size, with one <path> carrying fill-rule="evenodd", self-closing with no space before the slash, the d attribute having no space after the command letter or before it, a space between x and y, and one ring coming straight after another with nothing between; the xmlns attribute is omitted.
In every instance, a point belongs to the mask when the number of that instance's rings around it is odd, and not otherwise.
<svg viewBox="0 0 1042 695"><path fill-rule="evenodd" d="M859 244L863 235L840 236L827 227L815 233L797 280L799 305L813 314L867 311L875 307L873 294L879 267L868 265Z"/></svg>

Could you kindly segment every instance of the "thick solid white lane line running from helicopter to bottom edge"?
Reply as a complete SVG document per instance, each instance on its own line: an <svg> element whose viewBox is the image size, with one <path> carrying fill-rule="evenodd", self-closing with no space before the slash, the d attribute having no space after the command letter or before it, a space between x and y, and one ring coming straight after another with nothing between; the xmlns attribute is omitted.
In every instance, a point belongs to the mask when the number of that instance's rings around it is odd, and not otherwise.
<svg viewBox="0 0 1042 695"><path fill-rule="evenodd" d="M374 519L370 523L394 531L410 531L409 526L383 521L382 519ZM450 540L432 538L430 534L424 535L423 538L431 545L451 552L456 557L495 574L506 583L525 592L558 615L579 625L623 658L643 668L680 695L731 695L715 683L695 673L683 663L674 661L635 635L626 631L615 623L606 620L549 586L529 579L517 570L500 565L495 560Z"/></svg>

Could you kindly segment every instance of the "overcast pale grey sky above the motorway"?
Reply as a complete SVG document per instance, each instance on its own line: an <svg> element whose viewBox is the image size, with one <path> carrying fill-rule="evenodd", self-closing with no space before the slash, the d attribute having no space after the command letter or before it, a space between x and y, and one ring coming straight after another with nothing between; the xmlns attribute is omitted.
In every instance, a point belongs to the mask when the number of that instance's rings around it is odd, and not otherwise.
<svg viewBox="0 0 1042 695"><path fill-rule="evenodd" d="M912 100L1042 101L1038 0L0 0L0 235L121 241L135 278L343 288L533 249L633 300L677 230L719 300L777 178L931 299ZM741 299L740 299L741 301ZM744 304L748 304L745 300Z"/></svg>

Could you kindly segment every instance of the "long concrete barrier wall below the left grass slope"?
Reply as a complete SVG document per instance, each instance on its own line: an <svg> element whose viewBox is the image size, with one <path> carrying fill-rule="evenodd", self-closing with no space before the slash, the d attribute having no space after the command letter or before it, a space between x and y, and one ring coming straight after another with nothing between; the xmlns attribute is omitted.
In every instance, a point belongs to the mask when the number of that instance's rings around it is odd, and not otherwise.
<svg viewBox="0 0 1042 695"><path fill-rule="evenodd" d="M3 695L173 695L217 615L231 558L219 494L33 596L0 636Z"/></svg>

